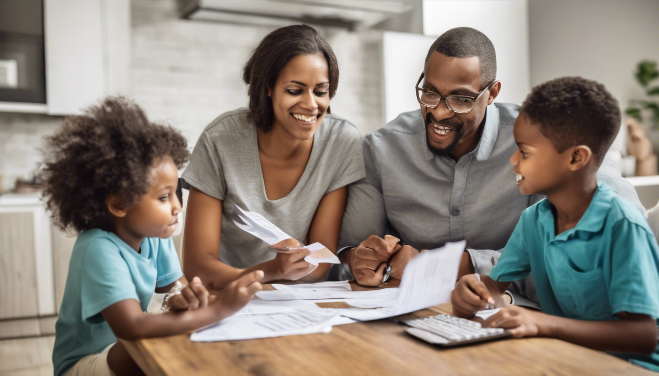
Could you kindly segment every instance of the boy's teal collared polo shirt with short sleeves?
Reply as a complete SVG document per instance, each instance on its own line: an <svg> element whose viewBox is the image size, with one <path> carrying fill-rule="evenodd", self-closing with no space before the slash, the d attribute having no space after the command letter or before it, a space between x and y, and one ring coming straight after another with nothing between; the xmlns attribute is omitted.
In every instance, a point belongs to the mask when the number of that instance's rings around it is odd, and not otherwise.
<svg viewBox="0 0 659 376"><path fill-rule="evenodd" d="M576 227L556 235L554 217L546 199L526 209L490 278L519 281L532 273L550 315L596 321L627 311L659 318L659 250L638 209L600 183ZM659 371L659 346L651 356L615 355Z"/></svg>

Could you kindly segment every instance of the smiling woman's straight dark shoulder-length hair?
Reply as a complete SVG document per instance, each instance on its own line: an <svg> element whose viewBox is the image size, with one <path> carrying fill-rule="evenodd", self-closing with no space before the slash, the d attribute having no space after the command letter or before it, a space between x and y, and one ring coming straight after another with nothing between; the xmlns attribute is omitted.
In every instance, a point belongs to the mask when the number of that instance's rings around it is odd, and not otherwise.
<svg viewBox="0 0 659 376"><path fill-rule="evenodd" d="M291 57L322 53L329 68L329 98L339 85L339 64L328 42L316 29L306 25L278 28L263 38L243 68L243 81L248 84L249 109L256 127L272 129L274 113L268 88L272 88ZM328 108L329 113L329 108Z"/></svg>

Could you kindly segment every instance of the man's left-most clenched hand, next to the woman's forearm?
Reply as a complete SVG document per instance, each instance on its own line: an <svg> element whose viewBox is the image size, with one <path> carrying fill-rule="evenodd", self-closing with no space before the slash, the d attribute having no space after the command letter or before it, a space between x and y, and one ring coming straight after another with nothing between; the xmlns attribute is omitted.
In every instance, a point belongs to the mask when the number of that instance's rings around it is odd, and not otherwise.
<svg viewBox="0 0 659 376"><path fill-rule="evenodd" d="M350 272L355 281L365 286L379 286L382 283L386 262L393 254L398 238L385 235L371 235L357 247L348 250L346 258Z"/></svg>

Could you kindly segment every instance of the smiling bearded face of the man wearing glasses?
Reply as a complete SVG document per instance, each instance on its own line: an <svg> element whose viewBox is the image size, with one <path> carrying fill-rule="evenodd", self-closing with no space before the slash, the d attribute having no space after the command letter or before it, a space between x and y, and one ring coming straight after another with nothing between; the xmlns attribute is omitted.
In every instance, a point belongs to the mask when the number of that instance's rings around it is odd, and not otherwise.
<svg viewBox="0 0 659 376"><path fill-rule="evenodd" d="M447 57L434 51L419 86L442 95L442 101L435 108L421 105L428 149L436 154L449 155L454 149L464 149L461 154L465 154L476 148L480 139L478 126L494 97L486 91L476 99L469 113L454 113L446 107L444 95L478 95L482 89L478 57Z"/></svg>

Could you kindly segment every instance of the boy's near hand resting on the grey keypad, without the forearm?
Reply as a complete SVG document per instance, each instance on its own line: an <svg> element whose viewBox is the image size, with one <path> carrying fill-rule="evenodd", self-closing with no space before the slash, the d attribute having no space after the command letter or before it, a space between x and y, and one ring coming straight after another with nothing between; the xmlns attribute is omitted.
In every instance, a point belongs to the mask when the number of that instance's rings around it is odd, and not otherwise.
<svg viewBox="0 0 659 376"><path fill-rule="evenodd" d="M547 315L519 306L507 306L488 317L483 327L509 329L515 337L542 334Z"/></svg>

